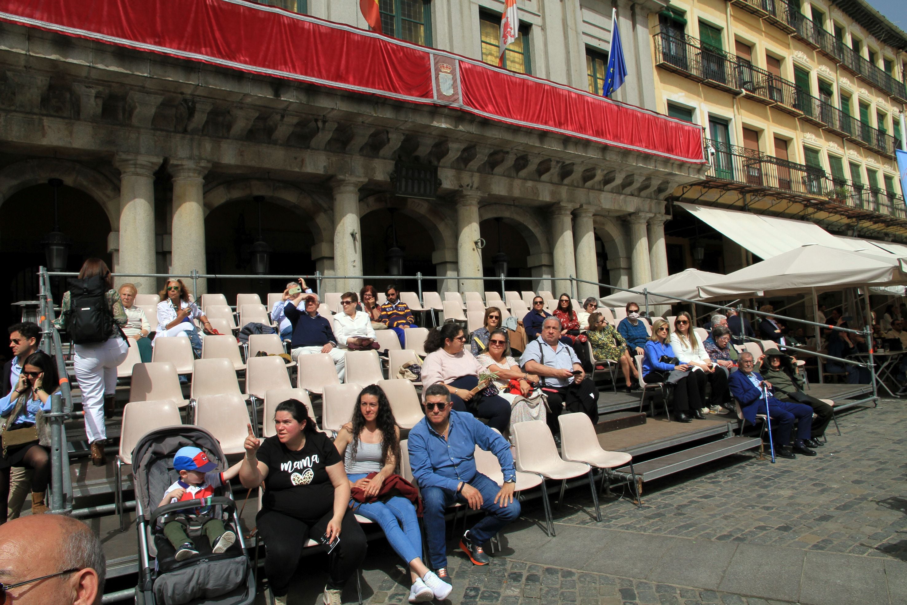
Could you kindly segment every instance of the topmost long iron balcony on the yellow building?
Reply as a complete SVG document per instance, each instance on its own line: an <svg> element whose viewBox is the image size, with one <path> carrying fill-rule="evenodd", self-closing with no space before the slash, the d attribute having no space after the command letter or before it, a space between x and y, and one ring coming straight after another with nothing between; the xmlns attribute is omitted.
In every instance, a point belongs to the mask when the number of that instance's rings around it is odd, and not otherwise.
<svg viewBox="0 0 907 605"><path fill-rule="evenodd" d="M833 34L807 19L799 7L786 0L731 0L746 11L759 15L787 34L809 44L819 52L844 65L844 68L860 76L867 83L892 95L901 102L907 102L907 87L895 80L890 73L885 73L878 66L870 63L852 48L846 46Z"/></svg>

